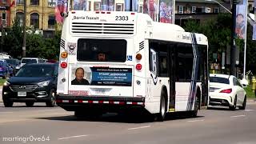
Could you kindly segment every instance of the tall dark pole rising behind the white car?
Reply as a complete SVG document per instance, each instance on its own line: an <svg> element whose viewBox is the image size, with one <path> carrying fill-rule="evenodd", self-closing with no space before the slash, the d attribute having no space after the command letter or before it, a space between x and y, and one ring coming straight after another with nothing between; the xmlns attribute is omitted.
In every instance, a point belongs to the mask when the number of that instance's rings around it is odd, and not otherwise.
<svg viewBox="0 0 256 144"><path fill-rule="evenodd" d="M236 25L236 13L237 13L237 2L238 0L233 0L232 3L232 31L231 31L231 48L230 48L230 75L236 76L235 62L236 62L236 46L235 46L235 25Z"/></svg>

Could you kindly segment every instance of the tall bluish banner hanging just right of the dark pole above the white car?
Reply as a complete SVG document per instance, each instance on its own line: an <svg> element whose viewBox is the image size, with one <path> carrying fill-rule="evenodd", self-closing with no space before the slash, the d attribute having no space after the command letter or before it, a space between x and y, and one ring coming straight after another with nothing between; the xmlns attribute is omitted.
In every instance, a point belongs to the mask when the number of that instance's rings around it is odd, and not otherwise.
<svg viewBox="0 0 256 144"><path fill-rule="evenodd" d="M247 0L241 0L237 4L235 34L237 38L246 38L247 28Z"/></svg>

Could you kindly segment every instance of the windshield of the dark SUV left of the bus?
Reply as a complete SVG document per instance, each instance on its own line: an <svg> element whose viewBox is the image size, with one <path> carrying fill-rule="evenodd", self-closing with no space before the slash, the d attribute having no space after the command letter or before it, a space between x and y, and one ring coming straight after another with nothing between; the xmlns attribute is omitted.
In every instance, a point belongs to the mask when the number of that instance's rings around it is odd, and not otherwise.
<svg viewBox="0 0 256 144"><path fill-rule="evenodd" d="M32 65L22 66L18 70L17 77L50 77L54 75L54 66Z"/></svg>

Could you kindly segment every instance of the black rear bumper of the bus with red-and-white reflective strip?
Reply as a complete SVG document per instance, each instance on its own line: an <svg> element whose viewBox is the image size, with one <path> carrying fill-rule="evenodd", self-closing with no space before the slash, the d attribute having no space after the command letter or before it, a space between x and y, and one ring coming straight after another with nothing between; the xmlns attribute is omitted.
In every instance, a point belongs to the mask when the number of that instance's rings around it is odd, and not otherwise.
<svg viewBox="0 0 256 144"><path fill-rule="evenodd" d="M67 111L100 108L109 112L118 112L130 108L144 108L145 98L58 95L56 103Z"/></svg>

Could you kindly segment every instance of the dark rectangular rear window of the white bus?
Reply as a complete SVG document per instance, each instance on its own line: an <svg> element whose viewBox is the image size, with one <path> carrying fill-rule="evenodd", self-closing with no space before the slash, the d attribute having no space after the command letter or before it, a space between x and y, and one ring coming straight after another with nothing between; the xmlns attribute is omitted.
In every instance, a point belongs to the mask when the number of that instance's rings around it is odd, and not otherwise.
<svg viewBox="0 0 256 144"><path fill-rule="evenodd" d="M78 61L126 62L124 39L78 39Z"/></svg>

